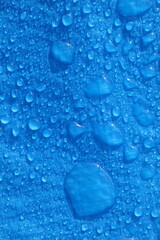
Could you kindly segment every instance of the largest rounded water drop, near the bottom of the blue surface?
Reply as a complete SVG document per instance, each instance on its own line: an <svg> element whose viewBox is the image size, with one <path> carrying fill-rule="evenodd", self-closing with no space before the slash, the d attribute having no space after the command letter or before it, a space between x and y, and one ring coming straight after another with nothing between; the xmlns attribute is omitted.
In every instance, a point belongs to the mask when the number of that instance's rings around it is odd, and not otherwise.
<svg viewBox="0 0 160 240"><path fill-rule="evenodd" d="M74 166L67 174L64 186L78 218L101 214L115 202L112 179L95 163Z"/></svg>

